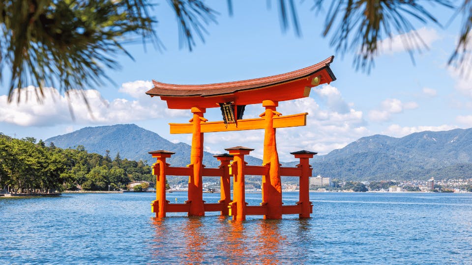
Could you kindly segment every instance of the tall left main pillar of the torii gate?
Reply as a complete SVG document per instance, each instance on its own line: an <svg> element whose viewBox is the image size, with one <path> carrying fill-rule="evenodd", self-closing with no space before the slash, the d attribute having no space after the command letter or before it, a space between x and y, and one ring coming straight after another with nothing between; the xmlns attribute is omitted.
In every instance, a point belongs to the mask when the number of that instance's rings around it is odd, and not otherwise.
<svg viewBox="0 0 472 265"><path fill-rule="evenodd" d="M193 124L192 149L190 152L190 165L193 167L193 174L188 178L188 202L190 210L188 216L204 216L205 206L203 202L203 132L201 122L206 122L203 117L205 108L192 107L193 118L190 122Z"/></svg>

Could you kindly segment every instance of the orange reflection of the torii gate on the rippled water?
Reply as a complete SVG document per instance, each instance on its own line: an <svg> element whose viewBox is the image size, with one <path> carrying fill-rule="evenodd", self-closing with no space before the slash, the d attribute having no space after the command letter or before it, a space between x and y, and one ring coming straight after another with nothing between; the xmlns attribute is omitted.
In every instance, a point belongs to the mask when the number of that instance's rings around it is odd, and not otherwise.
<svg viewBox="0 0 472 265"><path fill-rule="evenodd" d="M282 235L289 220L235 222L231 217L153 218L156 262L183 264L291 264L298 250ZM293 224L298 220L290 220ZM307 229L307 228L306 228ZM303 255L302 255L303 256ZM305 259L301 259L305 260ZM297 257L297 262L300 257Z"/></svg>

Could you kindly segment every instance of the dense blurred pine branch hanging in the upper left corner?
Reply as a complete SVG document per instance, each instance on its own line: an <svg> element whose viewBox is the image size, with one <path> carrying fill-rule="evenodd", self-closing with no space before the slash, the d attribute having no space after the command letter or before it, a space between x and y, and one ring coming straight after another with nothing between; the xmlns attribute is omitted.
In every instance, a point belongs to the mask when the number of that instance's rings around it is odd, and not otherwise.
<svg viewBox="0 0 472 265"><path fill-rule="evenodd" d="M64 91L85 89L107 78L103 67L118 67L116 54L133 35L152 38L146 0L0 2L0 62L8 65L13 89L33 83ZM0 72L0 77L2 77ZM19 97L19 94L18 94Z"/></svg>

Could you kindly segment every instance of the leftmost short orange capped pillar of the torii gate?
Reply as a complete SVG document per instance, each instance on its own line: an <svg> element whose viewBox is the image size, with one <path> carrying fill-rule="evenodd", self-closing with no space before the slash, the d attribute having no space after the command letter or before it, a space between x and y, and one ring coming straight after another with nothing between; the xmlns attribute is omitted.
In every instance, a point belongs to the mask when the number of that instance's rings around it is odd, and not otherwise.
<svg viewBox="0 0 472 265"><path fill-rule="evenodd" d="M157 150L149 152L157 161L152 164L152 175L156 176L156 200L151 203L152 212L156 213L156 217L166 217L166 205L169 203L166 200L166 158L170 158L175 153Z"/></svg>

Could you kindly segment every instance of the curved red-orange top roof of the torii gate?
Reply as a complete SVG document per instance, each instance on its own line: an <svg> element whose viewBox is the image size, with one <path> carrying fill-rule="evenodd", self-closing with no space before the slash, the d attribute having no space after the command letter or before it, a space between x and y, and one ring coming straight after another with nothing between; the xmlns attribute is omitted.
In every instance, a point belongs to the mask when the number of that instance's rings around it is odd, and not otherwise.
<svg viewBox="0 0 472 265"><path fill-rule="evenodd" d="M218 103L234 102L236 105L259 104L264 100L286 101L308 97L318 77L319 84L336 80L329 64L334 56L315 65L293 72L242 81L180 85L152 80L154 87L146 94L160 96L169 108L190 109L192 107L218 107Z"/></svg>

